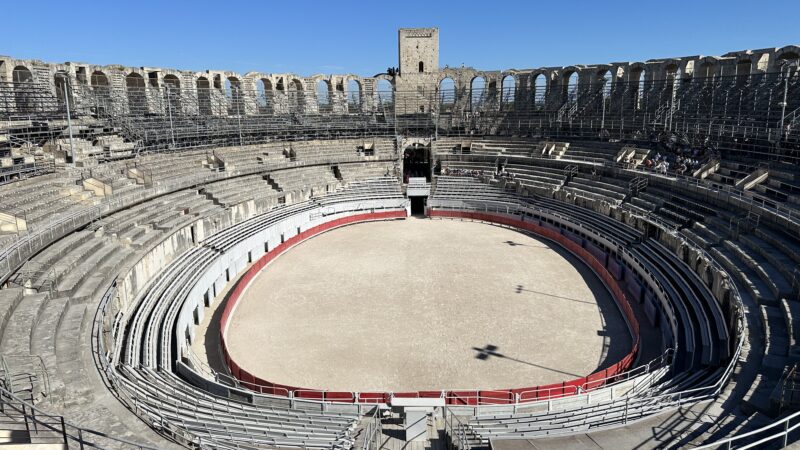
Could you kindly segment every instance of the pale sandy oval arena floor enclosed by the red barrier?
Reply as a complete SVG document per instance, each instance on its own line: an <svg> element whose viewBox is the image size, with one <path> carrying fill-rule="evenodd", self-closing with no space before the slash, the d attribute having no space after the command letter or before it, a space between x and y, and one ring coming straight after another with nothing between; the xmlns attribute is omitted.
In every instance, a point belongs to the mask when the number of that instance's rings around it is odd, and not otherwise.
<svg viewBox="0 0 800 450"><path fill-rule="evenodd" d="M554 383L616 362L631 344L603 285L560 247L419 218L291 249L246 290L227 342L263 379L361 392Z"/></svg>

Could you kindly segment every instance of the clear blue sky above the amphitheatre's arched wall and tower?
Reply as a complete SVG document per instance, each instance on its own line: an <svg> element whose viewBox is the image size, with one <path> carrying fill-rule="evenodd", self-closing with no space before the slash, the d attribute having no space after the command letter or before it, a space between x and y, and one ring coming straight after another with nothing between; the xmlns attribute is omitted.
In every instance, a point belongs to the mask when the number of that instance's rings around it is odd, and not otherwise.
<svg viewBox="0 0 800 450"><path fill-rule="evenodd" d="M440 64L533 68L800 44L800 0L3 1L0 54L47 62L374 75L397 29L439 27Z"/></svg>

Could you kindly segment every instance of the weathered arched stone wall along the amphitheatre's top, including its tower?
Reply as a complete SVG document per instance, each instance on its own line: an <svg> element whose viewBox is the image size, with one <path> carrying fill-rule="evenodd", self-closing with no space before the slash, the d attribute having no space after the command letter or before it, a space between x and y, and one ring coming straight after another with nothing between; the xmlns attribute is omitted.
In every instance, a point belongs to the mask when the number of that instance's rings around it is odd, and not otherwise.
<svg viewBox="0 0 800 450"><path fill-rule="evenodd" d="M302 77L293 73L237 72L206 70L201 72L184 71L159 67L129 67L120 65L93 65L78 62L46 63L38 60L14 59L0 56L0 81L32 81L55 86L55 76L63 73L75 85L104 86L124 89L133 82L147 87L170 86L180 89L217 88L234 84L247 92L257 91L306 91L315 92L320 82L324 82L331 97L346 95L348 83L355 81L361 95L372 96L380 80L388 80L398 91L412 91L425 88L436 90L445 78L454 81L456 89L468 88L473 79L481 77L488 88L500 87L503 80L513 76L516 89L532 89L541 76L547 86L567 84L573 74L579 84L602 82L610 77L612 82L635 82L641 77L644 81L667 78L691 78L712 76L751 75L781 70L786 61L800 57L800 47L790 45L781 48L743 50L726 53L722 56L685 56L660 58L644 62L614 62L608 64L574 65L565 67L542 67L534 69L508 69L497 71L465 68L439 68L438 29L415 28L399 30L400 63L404 70L399 76L378 75L360 77L353 74L315 75ZM417 48L419 46L419 49ZM406 57L408 61L403 58ZM423 70L419 71L419 62ZM29 72L28 79L20 80L19 71ZM16 77L16 78L15 78ZM53 87L55 89L55 87Z"/></svg>

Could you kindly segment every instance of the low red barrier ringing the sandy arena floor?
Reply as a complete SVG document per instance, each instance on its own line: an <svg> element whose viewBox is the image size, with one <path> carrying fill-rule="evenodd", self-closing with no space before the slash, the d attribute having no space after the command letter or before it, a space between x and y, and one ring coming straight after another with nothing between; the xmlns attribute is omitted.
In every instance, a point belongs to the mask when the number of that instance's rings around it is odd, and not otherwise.
<svg viewBox="0 0 800 450"><path fill-rule="evenodd" d="M449 405L499 405L510 404L515 402L531 402L539 400L554 399L569 395L575 395L581 392L591 391L600 388L608 383L617 381L621 378L626 371L630 370L633 362L636 360L636 355L639 351L639 322L631 309L628 298L624 291L620 288L617 280L606 269L604 262L599 261L590 251L581 247L578 243L562 235L558 231L550 228L539 226L535 223L523 222L521 220L502 216L498 214L479 213L479 212L466 212L466 211L434 211L429 212L431 217L454 217L481 220L485 222L499 223L508 225L514 228L530 231L534 234L550 239L562 247L569 250L575 256L580 258L587 264L603 281L606 287L611 291L612 296L617 302L620 310L625 315L628 324L630 325L631 333L633 334L633 346L624 358L612 366L595 372L591 375L577 378L563 383L550 384L545 386L533 386L517 389L497 389L497 390L470 390L470 391L420 391L420 392L332 392L321 391L315 389L305 389L300 387L293 387L281 385L262 380L257 376L248 373L236 362L231 359L228 354L228 349L225 345L225 328L228 324L231 312L233 311L236 303L239 301L244 289L250 281L258 274L261 269L269 264L272 260L280 254L291 248L292 246L304 241L317 234L330 230L332 228L340 227L343 225L366 222L372 220L385 220L392 218L405 217L405 211L389 211L370 214L358 214L349 217L335 219L331 222L318 225L310 228L295 237L292 237L283 244L275 247L269 253L265 254L255 264L253 264L247 273L239 280L236 287L230 294L225 310L222 313L220 320L220 340L222 343L222 351L225 361L231 374L236 377L242 386L262 394L291 396L295 398L304 398L310 400L331 401L331 402L346 402L346 403L388 403L392 396L395 397L424 397L424 398L441 398L444 397Z"/></svg>

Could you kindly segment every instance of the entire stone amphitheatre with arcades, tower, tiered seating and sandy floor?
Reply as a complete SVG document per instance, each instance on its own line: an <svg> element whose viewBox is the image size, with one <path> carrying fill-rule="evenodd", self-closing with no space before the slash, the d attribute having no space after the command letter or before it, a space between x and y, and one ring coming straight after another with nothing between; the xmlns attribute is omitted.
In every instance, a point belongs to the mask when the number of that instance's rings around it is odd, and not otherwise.
<svg viewBox="0 0 800 450"><path fill-rule="evenodd" d="M0 57L1 444L796 441L800 48L398 39L375 77Z"/></svg>

